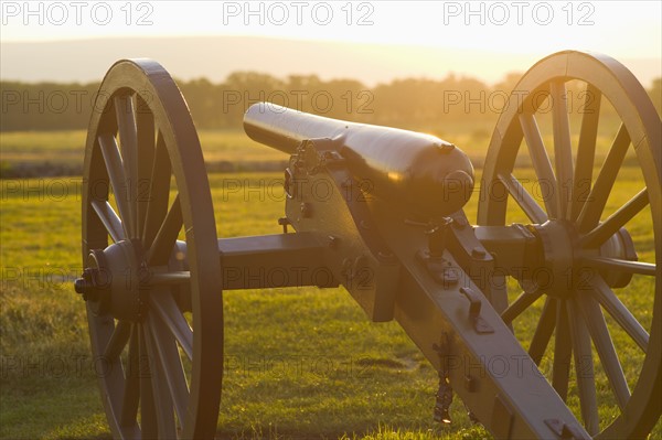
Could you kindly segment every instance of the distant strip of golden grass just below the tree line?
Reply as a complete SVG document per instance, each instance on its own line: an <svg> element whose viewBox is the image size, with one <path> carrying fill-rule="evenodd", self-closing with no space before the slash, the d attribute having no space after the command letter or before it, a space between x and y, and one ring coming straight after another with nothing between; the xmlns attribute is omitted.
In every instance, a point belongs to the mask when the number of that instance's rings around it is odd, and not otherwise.
<svg viewBox="0 0 662 440"><path fill-rule="evenodd" d="M578 126L576 116L570 118ZM618 125L609 117L600 120L597 154L604 158ZM549 115L538 124L546 144L553 143ZM492 136L492 124L460 121L421 127L419 130L451 141L465 151L476 168L482 168ZM287 161L280 151L250 140L241 129L200 130L200 142L209 171L275 171ZM573 138L577 144L578 136ZM86 130L0 132L0 176L76 175L82 173ZM634 163L631 157L629 163ZM523 158L527 164L527 158Z"/></svg>

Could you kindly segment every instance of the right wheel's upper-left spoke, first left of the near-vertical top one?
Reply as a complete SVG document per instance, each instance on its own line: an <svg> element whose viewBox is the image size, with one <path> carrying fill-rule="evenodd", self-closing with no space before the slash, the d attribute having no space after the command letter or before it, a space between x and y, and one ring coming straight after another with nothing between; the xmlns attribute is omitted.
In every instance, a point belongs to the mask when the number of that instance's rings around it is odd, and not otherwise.
<svg viewBox="0 0 662 440"><path fill-rule="evenodd" d="M524 139L526 139L526 144L528 146L528 154L531 155L538 184L544 184L545 187L551 189L552 192L554 192L556 190L556 178L554 176L552 162L549 162L549 157L547 155L547 150L543 143L541 131L535 121L535 116L521 114L520 124L522 125L522 132L524 133ZM546 194L544 197L545 207L552 218L558 218L557 206L554 198L555 197L549 197L548 194Z"/></svg>

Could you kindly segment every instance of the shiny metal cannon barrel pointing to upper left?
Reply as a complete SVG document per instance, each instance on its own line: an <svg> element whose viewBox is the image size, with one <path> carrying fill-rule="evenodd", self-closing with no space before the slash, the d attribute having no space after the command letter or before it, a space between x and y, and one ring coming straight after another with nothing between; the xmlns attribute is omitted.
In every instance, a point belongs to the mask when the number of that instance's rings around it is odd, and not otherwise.
<svg viewBox="0 0 662 440"><path fill-rule="evenodd" d="M381 200L429 221L459 211L473 190L473 167L455 144L430 135L348 122L269 103L244 116L250 139L288 154L303 140L330 138L352 175Z"/></svg>

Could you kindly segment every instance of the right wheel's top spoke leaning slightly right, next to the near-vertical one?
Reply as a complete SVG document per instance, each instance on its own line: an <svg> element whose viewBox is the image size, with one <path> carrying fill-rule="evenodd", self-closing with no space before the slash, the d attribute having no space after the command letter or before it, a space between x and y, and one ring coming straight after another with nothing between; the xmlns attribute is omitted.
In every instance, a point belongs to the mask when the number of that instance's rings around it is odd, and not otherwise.
<svg viewBox="0 0 662 440"><path fill-rule="evenodd" d="M598 139L598 121L600 119L600 101L602 99L602 94L592 84L586 85L585 94L579 144L577 146L577 163L575 163L575 179L573 181L572 221L577 219L581 203L587 200L590 193Z"/></svg>

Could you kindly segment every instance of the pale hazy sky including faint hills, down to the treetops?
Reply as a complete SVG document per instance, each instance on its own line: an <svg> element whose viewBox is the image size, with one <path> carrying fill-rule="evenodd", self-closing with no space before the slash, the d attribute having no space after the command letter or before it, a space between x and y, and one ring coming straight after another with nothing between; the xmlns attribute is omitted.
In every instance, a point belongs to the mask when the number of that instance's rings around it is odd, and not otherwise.
<svg viewBox="0 0 662 440"><path fill-rule="evenodd" d="M0 12L3 44L0 76L9 79L98 79L118 57L149 56L173 66L173 73L183 78L215 77L227 74L226 69L259 69L275 75L318 73L322 77L356 77L374 84L393 77L440 77L457 72L494 83L509 72L523 72L543 56L566 49L608 54L624 63L647 86L662 76L659 0L0 0ZM291 45L280 43L271 44L270 50L276 53L269 54L259 49L246 52L237 47L237 53L232 47L214 51L195 45L186 49L172 45L172 53L168 52L169 46L164 47L166 53L150 52L154 41L147 40L99 44L98 50L93 44L84 53L66 45L38 45L30 50L11 45L12 42L179 35L246 35L377 45L345 46L340 56L337 52L325 52L322 45L317 52L297 53ZM277 56L279 51L281 56ZM222 62L223 66L213 65L212 61Z"/></svg>

